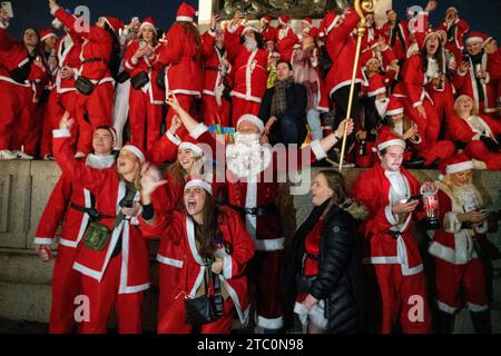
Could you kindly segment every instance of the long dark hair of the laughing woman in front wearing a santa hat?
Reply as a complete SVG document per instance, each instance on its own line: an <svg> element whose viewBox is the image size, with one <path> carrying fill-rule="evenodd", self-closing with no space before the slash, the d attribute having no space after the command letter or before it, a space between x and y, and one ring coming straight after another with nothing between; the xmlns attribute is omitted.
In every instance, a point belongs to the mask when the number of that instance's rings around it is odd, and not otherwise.
<svg viewBox="0 0 501 356"><path fill-rule="evenodd" d="M213 196L206 191L202 211L204 224L198 226L200 234L196 234L196 239L200 244L199 254L207 259L212 259L216 253L216 236L219 234L219 208L212 201Z"/></svg>

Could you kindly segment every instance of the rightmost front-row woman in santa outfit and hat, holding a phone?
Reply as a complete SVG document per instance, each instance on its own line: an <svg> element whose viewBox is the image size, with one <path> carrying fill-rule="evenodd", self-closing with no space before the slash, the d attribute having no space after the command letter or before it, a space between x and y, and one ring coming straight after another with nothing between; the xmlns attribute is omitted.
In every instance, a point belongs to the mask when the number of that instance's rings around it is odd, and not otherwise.
<svg viewBox="0 0 501 356"><path fill-rule="evenodd" d="M439 206L442 227L434 231L429 247L435 261L438 332L454 330L455 313L464 301L478 334L491 333L484 265L478 240L485 239L485 199L472 180L474 164L460 154L441 167ZM463 301L464 300L464 301Z"/></svg>

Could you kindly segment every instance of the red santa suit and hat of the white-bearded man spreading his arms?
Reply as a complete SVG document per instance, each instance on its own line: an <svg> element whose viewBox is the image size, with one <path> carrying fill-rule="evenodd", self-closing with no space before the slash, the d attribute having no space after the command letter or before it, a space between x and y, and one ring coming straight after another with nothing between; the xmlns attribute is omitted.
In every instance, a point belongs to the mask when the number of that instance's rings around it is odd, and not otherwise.
<svg viewBox="0 0 501 356"><path fill-rule="evenodd" d="M237 121L237 127L244 120L255 125L259 125L261 121L257 117L244 116ZM264 131L262 122L259 126ZM297 151L296 157L287 156L291 152L285 151L271 152L257 145L253 146L252 151L262 157L258 160L263 166L256 167L255 164L248 165L248 161L239 156L238 145L220 147L202 123L190 132L190 136L199 142L209 145L215 159L217 152L226 155L229 169L228 178L225 180L228 202L240 211L256 248L252 275L257 293L257 325L267 329L279 329L284 323L279 290L282 278L278 273L282 268L284 237L276 206L278 172L298 169L305 164L326 157L326 154L317 140ZM225 157L217 157L217 160L224 161Z"/></svg>

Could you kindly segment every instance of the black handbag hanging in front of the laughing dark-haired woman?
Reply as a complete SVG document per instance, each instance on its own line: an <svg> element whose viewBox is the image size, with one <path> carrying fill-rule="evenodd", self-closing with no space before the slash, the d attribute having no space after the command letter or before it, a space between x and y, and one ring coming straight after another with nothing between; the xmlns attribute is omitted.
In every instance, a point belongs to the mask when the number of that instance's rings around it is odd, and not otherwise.
<svg viewBox="0 0 501 356"><path fill-rule="evenodd" d="M214 320L216 317L216 306L214 298L208 294L210 265L205 267L204 280L205 280L205 294L190 298L188 291L185 297L185 323L189 325L204 325ZM188 274L186 274L186 290L188 285Z"/></svg>

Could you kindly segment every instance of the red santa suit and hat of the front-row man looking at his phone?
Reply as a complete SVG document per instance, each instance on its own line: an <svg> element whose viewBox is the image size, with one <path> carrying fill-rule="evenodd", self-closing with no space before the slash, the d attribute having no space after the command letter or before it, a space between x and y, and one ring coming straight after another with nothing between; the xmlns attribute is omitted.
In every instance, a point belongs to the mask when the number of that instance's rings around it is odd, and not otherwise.
<svg viewBox="0 0 501 356"><path fill-rule="evenodd" d="M395 136L379 137L377 149L405 142ZM420 190L419 181L405 169L385 171L376 164L358 175L352 194L372 212L363 227L364 258L370 276L370 286L374 287L374 298L381 305L374 305L376 329L392 333L400 318L404 333L429 333L431 315L428 307L428 291L423 274L423 264L415 239L409 231L412 214L395 216L392 205L407 199ZM419 296L421 318L411 320L409 312Z"/></svg>

